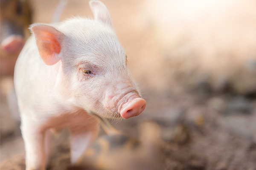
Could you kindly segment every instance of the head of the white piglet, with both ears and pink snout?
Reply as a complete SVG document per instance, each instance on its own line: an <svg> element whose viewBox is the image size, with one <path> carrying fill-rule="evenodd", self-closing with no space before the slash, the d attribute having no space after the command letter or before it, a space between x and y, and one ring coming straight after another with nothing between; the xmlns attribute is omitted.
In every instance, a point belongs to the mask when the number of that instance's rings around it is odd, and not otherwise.
<svg viewBox="0 0 256 170"><path fill-rule="evenodd" d="M58 72L55 89L66 105L106 117L137 116L146 102L127 67L127 57L106 6L90 1L94 20L74 17L54 28L31 27L41 59Z"/></svg>

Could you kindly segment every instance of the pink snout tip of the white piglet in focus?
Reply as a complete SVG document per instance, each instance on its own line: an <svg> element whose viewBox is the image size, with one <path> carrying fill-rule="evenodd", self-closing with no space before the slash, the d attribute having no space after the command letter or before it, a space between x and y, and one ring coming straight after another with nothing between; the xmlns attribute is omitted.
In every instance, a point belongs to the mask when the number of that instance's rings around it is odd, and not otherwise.
<svg viewBox="0 0 256 170"><path fill-rule="evenodd" d="M122 118L128 119L134 116L138 116L144 111L146 107L146 101L140 97L134 97L131 101L125 103L120 111Z"/></svg>

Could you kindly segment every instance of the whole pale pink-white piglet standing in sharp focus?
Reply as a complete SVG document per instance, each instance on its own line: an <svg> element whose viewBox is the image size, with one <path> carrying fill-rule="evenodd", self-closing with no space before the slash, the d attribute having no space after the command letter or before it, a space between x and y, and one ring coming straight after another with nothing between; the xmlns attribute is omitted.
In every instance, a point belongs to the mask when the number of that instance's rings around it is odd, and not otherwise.
<svg viewBox="0 0 256 170"><path fill-rule="evenodd" d="M127 119L145 109L107 8L100 1L90 1L90 7L94 20L33 24L34 35L17 59L15 90L26 170L45 170L52 130L70 127L75 163L98 133L90 112Z"/></svg>

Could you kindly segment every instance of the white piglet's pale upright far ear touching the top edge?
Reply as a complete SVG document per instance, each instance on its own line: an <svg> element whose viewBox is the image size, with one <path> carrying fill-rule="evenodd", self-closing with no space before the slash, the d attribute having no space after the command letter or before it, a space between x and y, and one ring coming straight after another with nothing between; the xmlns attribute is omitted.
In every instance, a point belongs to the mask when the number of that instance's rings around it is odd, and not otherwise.
<svg viewBox="0 0 256 170"><path fill-rule="evenodd" d="M91 10L93 11L94 19L102 21L112 28L112 19L104 3L99 0L91 0L89 4Z"/></svg>

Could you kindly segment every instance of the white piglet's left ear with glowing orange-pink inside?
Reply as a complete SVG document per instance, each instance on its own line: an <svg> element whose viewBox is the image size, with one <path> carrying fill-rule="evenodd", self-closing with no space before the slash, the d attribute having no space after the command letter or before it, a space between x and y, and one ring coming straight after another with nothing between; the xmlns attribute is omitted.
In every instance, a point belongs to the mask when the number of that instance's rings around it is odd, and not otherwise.
<svg viewBox="0 0 256 170"><path fill-rule="evenodd" d="M57 29L52 26L33 24L31 30L35 35L38 52L46 65L54 65L60 60L61 42L64 38Z"/></svg>

